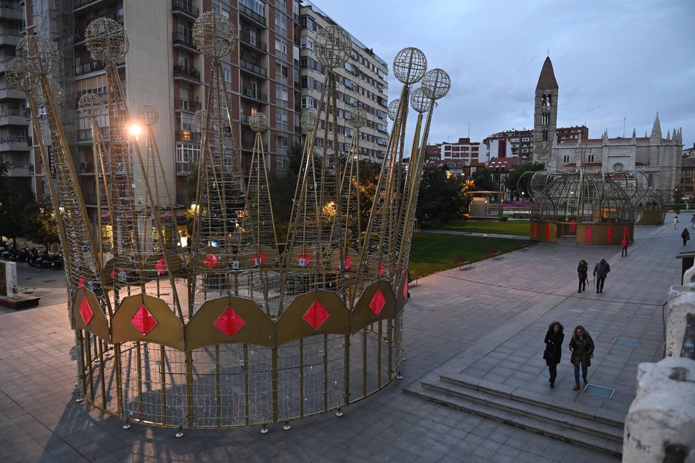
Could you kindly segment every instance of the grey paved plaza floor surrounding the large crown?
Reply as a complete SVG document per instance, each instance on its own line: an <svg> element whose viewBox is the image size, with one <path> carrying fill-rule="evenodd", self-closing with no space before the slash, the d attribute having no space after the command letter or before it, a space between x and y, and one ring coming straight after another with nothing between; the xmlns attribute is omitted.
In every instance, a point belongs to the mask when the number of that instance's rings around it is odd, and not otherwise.
<svg viewBox="0 0 695 463"><path fill-rule="evenodd" d="M667 216L671 223L673 215ZM40 307L0 309L0 462L562 462L615 461L604 453L513 425L437 405L404 393L441 373L463 373L525 389L578 409L624 415L635 395L639 362L661 358L662 309L678 284L683 250L673 225L636 227L628 257L619 246L540 243L498 259L447 270L411 286L406 306L403 379L343 409L270 426L186 430L133 425L78 398L74 332L62 275L19 264L19 285L42 297ZM688 247L691 247L689 245ZM604 292L577 293L576 266L606 257ZM27 279L28 278L28 279ZM590 288L587 287L587 290ZM646 310L651 315L632 311ZM569 350L548 388L541 355L548 324L584 325L596 342L589 381L615 389L610 399L572 391ZM613 344L614 339L637 346Z"/></svg>

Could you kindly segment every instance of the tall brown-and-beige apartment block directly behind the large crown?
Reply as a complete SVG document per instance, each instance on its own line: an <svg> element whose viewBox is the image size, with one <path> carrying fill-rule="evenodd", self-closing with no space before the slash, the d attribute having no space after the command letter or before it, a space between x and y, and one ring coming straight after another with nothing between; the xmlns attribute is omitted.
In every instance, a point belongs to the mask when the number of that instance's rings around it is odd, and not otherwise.
<svg viewBox="0 0 695 463"><path fill-rule="evenodd" d="M225 130L234 134L244 171L247 173L250 167L254 145L255 133L248 124L253 113L264 113L270 122L270 129L263 133L263 145L271 170L286 168L288 149L301 141L297 69L300 3L297 0L268 3L260 0L26 0L17 6L24 8L24 12L19 9L18 22L22 26L18 31L24 29L22 18L26 18L25 33L37 33L58 42L63 60L53 77L65 90L60 113L88 213L94 221L97 195L92 132L90 121L76 111L76 102L85 93L97 93L104 101L107 99L105 65L92 59L85 46L85 28L92 19L114 19L128 33L129 52L117 63L117 69L131 115L136 115L142 104L151 104L159 112L154 135L179 221L195 199L190 197L186 185L200 154L201 133L193 116L195 111L205 108L206 88L211 79L209 58L193 44L193 24L202 13L222 13L238 31L237 47L231 56L223 59L222 70L234 120L232 127ZM6 22L4 13L2 17ZM19 38L14 40L14 45ZM19 102L19 106L15 104L11 108L24 109L23 95L14 90L0 90L0 97L7 94ZM24 132L15 129L7 133L24 137L21 141L27 145L31 138L26 137L24 113L22 120ZM108 140L108 115L102 115L97 122ZM45 131L45 127L38 127L38 131ZM4 127L0 133L5 133ZM16 145L13 143L13 148ZM40 199L48 194L48 188L38 147L33 148L34 154L26 157L30 169L35 167L35 191ZM28 150L27 146L25 151ZM13 156L17 163L22 160L21 154L13 152Z"/></svg>

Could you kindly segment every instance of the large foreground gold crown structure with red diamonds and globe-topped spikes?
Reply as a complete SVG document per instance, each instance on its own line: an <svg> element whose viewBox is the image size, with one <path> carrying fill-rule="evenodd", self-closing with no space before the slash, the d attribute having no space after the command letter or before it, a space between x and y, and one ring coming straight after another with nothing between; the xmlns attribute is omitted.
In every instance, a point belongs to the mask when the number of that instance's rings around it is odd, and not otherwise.
<svg viewBox="0 0 695 463"><path fill-rule="evenodd" d="M448 74L427 72L419 49L398 52L393 72L403 84L389 104L393 127L372 209L361 211L359 131L363 108L347 113L354 134L338 152L335 70L352 50L350 35L328 26L313 53L325 70L306 133L287 243L278 243L263 133L268 115L247 121L256 133L248 172L231 116L222 58L236 30L218 13L195 22L193 38L209 58L189 253L182 253L174 200L152 127L154 106L137 115L126 104L116 64L129 49L120 24L92 21L85 42L106 63L107 100L87 94L95 156L97 229L90 227L51 81L56 45L22 39L8 63L10 85L26 92L33 123L47 108L56 180L49 181L65 249L69 317L78 352L80 398L126 421L179 428L231 428L284 423L336 411L401 377L403 308L422 159L436 101ZM421 87L411 91L420 82ZM408 168L403 167L409 103L418 118ZM425 113L427 113L425 119ZM99 117L108 116L108 136ZM138 122L142 136L129 131ZM322 143L314 141L324 129ZM106 132L105 132L106 133ZM329 143L329 140L331 143ZM144 144L144 149L141 146ZM39 140L44 165L47 144ZM329 147L330 146L330 147ZM332 149L331 149L332 148ZM368 218L361 229L361 217ZM108 229L108 234L102 230ZM109 245L106 245L108 241ZM124 428L128 428L126 423Z"/></svg>

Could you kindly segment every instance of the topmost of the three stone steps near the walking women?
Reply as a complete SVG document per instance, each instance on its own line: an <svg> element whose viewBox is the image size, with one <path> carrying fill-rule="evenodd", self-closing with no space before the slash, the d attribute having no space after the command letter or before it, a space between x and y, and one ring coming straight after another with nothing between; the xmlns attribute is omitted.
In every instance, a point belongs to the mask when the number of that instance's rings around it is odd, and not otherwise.
<svg viewBox="0 0 695 463"><path fill-rule="evenodd" d="M553 400L550 401L548 396L543 396L538 393L526 391L525 389L508 386L507 384L499 384L497 382L482 380L464 373L440 375L439 379L443 382L467 387L468 389L475 389L477 391L490 393L495 396L511 398L518 402L534 405L535 407L543 407L555 412L561 412L563 414L578 416L583 419L615 426L621 429L622 436L622 429L625 425L625 415L618 412L613 412L612 410L601 409L598 407L588 407L585 405L582 405L582 409L578 409L577 404L571 400L566 400L564 398L553 398Z"/></svg>

